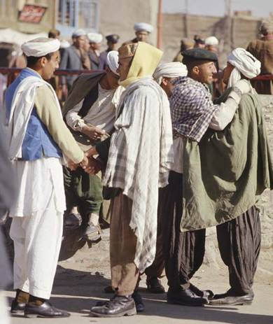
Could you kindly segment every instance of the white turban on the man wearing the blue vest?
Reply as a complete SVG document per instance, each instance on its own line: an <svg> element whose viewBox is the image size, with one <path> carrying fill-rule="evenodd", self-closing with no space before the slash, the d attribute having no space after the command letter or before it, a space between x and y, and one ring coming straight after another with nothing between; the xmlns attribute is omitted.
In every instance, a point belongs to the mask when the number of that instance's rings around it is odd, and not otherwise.
<svg viewBox="0 0 273 324"><path fill-rule="evenodd" d="M22 44L21 49L27 56L42 57L59 50L59 40L55 38L35 38Z"/></svg>

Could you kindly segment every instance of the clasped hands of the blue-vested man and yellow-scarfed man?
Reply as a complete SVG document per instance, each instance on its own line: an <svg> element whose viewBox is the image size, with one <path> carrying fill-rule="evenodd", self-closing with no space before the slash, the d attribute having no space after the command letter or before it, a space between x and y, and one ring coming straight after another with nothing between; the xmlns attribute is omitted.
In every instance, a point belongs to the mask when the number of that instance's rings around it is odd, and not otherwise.
<svg viewBox="0 0 273 324"><path fill-rule="evenodd" d="M83 170L87 174L97 174L100 170L102 170L102 163L98 160L94 159L94 155L97 155L97 150L95 147L90 148L85 152L85 156L80 163L74 163L73 161L69 161L68 167L72 171L78 169L78 167L82 167Z"/></svg>

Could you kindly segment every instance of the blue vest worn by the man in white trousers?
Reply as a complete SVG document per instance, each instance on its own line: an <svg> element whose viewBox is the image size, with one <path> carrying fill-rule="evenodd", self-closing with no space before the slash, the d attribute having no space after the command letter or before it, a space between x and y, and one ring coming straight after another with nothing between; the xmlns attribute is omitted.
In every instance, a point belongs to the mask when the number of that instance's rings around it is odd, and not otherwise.
<svg viewBox="0 0 273 324"><path fill-rule="evenodd" d="M10 108L13 101L13 95L16 88L22 80L29 76L39 77L36 71L31 69L23 69L13 83L6 90L6 117L9 118ZM25 161L41 159L41 157L62 157L62 151L57 146L57 143L52 139L48 129L43 122L38 118L36 108L34 106L29 123L27 125L27 132L22 143L22 159Z"/></svg>

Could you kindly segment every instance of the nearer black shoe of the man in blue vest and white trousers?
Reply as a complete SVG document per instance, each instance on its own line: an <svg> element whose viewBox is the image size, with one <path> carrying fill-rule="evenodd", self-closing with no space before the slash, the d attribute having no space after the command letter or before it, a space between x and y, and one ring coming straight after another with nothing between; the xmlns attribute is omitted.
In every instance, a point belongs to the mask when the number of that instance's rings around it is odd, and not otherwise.
<svg viewBox="0 0 273 324"><path fill-rule="evenodd" d="M67 311L62 311L62 309L57 309L52 306L49 302L44 302L41 306L36 306L32 304L27 304L25 307L25 317L35 318L59 318L59 317L69 317L70 314Z"/></svg>

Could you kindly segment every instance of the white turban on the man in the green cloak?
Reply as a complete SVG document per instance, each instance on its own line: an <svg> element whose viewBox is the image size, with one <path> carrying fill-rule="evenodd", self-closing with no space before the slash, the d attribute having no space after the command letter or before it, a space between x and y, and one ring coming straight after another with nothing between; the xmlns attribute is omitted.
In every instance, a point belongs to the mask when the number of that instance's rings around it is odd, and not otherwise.
<svg viewBox="0 0 273 324"><path fill-rule="evenodd" d="M232 50L228 57L228 62L235 66L235 69L230 74L228 87L235 85L241 79L241 74L248 79L255 78L255 76L260 74L260 61L244 48Z"/></svg>

